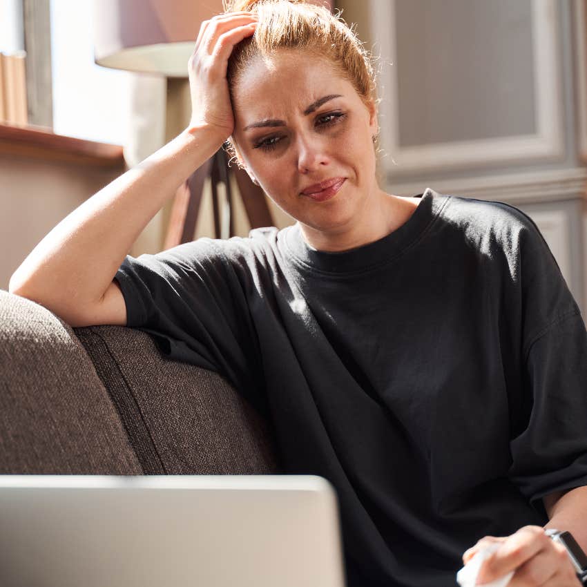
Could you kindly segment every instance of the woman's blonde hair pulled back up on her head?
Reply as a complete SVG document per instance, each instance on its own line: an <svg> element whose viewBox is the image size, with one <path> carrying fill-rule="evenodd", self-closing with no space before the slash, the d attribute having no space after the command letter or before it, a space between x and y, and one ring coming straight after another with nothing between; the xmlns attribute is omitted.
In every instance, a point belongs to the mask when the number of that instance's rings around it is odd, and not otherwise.
<svg viewBox="0 0 587 587"><path fill-rule="evenodd" d="M340 18L340 11L333 14L304 0L222 0L222 6L225 12L256 12L259 19L255 35L240 41L229 57L231 93L253 57L296 48L327 59L354 86L365 106L378 104L374 58ZM226 150L238 161L232 137Z"/></svg>

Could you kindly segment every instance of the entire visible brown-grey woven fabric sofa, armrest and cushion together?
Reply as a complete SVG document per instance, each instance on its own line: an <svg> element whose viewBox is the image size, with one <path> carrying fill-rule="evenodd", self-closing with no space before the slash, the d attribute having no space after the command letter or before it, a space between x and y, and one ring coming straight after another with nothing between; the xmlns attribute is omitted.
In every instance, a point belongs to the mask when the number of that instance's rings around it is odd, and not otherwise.
<svg viewBox="0 0 587 587"><path fill-rule="evenodd" d="M150 334L0 289L0 474L280 474L267 421Z"/></svg>

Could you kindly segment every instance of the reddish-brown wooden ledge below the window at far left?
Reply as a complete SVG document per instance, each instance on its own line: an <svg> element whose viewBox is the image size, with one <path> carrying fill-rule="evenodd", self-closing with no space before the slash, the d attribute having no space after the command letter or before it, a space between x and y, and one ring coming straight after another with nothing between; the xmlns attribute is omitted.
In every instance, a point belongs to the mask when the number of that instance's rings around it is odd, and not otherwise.
<svg viewBox="0 0 587 587"><path fill-rule="evenodd" d="M125 166L122 146L56 135L44 126L0 123L0 153L106 169Z"/></svg>

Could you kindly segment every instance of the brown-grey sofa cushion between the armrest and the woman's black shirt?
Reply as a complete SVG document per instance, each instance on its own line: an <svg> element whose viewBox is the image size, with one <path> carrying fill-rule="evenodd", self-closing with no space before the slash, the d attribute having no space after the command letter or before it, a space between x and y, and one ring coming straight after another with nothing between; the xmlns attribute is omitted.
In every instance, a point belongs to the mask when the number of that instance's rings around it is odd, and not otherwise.
<svg viewBox="0 0 587 587"><path fill-rule="evenodd" d="M218 374L165 358L143 331L74 330L97 365L146 473L276 470L267 423Z"/></svg>

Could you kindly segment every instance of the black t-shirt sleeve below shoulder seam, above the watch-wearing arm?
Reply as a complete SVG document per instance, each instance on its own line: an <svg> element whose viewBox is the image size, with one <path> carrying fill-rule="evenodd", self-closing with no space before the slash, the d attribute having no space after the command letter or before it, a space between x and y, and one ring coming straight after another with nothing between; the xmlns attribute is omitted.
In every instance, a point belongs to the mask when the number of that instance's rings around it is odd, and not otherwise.
<svg viewBox="0 0 587 587"><path fill-rule="evenodd" d="M512 481L535 502L587 485L587 333L581 315L560 316L526 360L529 417L511 443Z"/></svg>

